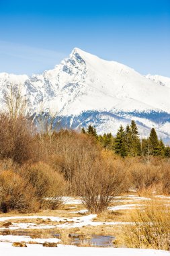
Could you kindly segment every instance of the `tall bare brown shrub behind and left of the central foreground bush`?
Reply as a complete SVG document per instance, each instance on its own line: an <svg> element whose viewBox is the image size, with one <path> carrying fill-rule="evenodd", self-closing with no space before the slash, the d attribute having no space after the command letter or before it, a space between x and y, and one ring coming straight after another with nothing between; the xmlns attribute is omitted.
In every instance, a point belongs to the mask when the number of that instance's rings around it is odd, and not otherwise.
<svg viewBox="0 0 170 256"><path fill-rule="evenodd" d="M49 158L49 164L54 170L64 174L71 192L75 173L85 168L88 162L95 161L101 149L93 138L75 131L60 131L53 141L53 154Z"/></svg>

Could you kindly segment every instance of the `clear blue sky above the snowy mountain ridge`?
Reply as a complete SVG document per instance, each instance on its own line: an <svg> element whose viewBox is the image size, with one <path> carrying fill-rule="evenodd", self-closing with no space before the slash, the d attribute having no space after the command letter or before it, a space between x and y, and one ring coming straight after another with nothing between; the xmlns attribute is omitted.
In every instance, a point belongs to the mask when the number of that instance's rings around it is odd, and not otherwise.
<svg viewBox="0 0 170 256"><path fill-rule="evenodd" d="M170 0L0 0L0 72L41 73L74 47L170 77Z"/></svg>

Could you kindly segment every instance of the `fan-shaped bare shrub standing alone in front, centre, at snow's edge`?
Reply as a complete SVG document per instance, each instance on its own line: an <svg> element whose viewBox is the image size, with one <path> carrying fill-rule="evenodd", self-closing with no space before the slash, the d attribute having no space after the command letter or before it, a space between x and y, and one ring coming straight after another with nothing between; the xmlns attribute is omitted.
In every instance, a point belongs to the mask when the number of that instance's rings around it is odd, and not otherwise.
<svg viewBox="0 0 170 256"><path fill-rule="evenodd" d="M91 213L107 210L113 197L127 191L126 175L121 164L95 160L75 175L77 195Z"/></svg>

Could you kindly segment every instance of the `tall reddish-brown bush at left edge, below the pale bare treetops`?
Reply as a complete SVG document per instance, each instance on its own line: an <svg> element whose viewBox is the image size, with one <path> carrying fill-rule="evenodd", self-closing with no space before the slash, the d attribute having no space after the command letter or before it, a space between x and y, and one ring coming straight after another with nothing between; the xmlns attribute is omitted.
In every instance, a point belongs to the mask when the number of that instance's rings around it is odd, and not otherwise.
<svg viewBox="0 0 170 256"><path fill-rule="evenodd" d="M28 160L36 160L37 152L32 123L22 117L11 119L8 115L1 114L0 158L11 158L13 162L22 164Z"/></svg>

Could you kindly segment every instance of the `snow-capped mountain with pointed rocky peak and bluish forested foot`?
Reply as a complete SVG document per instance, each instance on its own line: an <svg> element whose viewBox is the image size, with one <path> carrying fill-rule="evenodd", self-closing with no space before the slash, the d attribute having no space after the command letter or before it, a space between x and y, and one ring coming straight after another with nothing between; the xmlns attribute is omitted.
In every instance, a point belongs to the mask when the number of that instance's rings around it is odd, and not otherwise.
<svg viewBox="0 0 170 256"><path fill-rule="evenodd" d="M164 140L170 137L170 78L140 75L115 61L73 49L54 69L40 75L0 73L0 104L11 84L19 84L28 98L28 110L58 111L62 126L81 129L95 125L98 133L116 133L133 119L141 137L155 127Z"/></svg>

